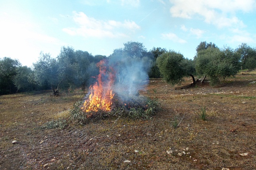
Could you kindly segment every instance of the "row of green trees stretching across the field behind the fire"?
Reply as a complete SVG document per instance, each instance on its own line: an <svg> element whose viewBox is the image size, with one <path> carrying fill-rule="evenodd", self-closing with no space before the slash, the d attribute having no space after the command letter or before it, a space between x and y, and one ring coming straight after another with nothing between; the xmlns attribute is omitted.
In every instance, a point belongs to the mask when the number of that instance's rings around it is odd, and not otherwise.
<svg viewBox="0 0 256 170"><path fill-rule="evenodd" d="M235 76L239 70L255 69L256 48L245 43L236 49L219 48L214 43L201 42L192 60L165 48L153 47L147 51L142 43L132 41L124 43L124 48L115 49L108 57L63 46L56 58L41 52L31 68L21 66L16 59L0 58L0 95L48 89L58 95L59 89L85 89L95 81L93 77L99 74L96 64L103 59L116 66L117 81L127 74L122 67L140 61L140 69L146 71L149 78L162 77L174 85L184 76L191 76L193 83L197 83L194 78L197 75L209 77L214 84L222 78Z"/></svg>

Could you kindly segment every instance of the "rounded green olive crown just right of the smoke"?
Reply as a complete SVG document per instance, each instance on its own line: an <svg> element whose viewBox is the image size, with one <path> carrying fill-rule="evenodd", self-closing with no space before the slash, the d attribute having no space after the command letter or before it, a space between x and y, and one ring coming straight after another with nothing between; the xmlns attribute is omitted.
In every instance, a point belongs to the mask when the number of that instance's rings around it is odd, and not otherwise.
<svg viewBox="0 0 256 170"><path fill-rule="evenodd" d="M175 85L182 81L182 78L186 74L182 62L184 56L175 51L164 52L157 58L157 66L163 78L170 83Z"/></svg>

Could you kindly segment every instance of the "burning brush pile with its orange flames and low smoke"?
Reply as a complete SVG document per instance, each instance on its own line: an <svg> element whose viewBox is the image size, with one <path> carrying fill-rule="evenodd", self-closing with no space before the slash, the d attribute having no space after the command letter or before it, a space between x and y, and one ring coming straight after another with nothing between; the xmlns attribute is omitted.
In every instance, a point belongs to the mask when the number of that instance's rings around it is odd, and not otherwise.
<svg viewBox="0 0 256 170"><path fill-rule="evenodd" d="M141 80L137 85L129 85L126 81L120 81L118 77L119 81L115 83L116 71L113 67L108 66L105 60L99 62L97 67L100 72L97 81L89 88L89 94L85 99L76 102L70 112L73 120L83 124L92 119L116 116L151 118L159 109L157 100L139 95L138 87L142 85Z"/></svg>

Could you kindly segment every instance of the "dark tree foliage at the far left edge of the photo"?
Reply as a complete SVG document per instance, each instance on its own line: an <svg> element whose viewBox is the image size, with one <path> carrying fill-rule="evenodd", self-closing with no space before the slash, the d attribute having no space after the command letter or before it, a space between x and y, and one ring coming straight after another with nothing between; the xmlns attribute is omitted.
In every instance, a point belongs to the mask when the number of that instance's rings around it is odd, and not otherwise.
<svg viewBox="0 0 256 170"><path fill-rule="evenodd" d="M21 66L18 60L5 57L0 59L0 95L15 93L14 78L17 75L17 68Z"/></svg>

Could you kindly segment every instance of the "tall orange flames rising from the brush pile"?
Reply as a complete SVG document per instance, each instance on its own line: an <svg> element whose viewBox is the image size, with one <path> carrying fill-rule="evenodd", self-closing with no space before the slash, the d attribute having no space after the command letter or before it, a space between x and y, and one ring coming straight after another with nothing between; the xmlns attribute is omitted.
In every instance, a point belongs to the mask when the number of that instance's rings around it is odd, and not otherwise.
<svg viewBox="0 0 256 170"><path fill-rule="evenodd" d="M115 71L113 68L109 67L107 72L107 66L105 64L105 60L101 60L97 63L97 67L99 67L99 75L97 77L97 81L92 87L90 87L91 94L89 95L89 99L85 100L81 109L85 112L98 110L109 111L112 105L112 99L114 97L114 93L111 89L114 83ZM107 81L104 82L103 76L106 76L108 73Z"/></svg>

